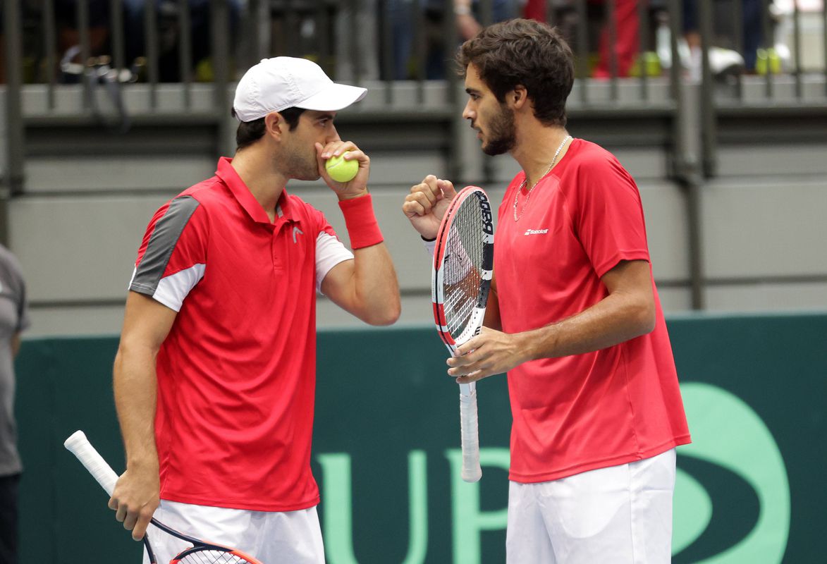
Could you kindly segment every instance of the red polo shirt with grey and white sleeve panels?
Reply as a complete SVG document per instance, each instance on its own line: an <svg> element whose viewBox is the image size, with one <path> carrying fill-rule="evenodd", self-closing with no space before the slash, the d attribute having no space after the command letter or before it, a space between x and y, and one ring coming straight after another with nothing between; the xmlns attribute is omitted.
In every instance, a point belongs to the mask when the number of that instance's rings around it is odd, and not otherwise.
<svg viewBox="0 0 827 564"><path fill-rule="evenodd" d="M179 311L157 360L160 496L305 509L319 501L317 240L335 233L286 193L270 222L230 163L155 213L130 284Z"/></svg>

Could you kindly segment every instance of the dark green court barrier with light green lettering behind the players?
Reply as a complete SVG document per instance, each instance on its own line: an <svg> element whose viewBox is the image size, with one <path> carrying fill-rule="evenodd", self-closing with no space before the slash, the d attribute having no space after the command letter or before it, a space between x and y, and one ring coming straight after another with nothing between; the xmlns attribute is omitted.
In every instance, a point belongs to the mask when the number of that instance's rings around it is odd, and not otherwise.
<svg viewBox="0 0 827 564"><path fill-rule="evenodd" d="M820 562L827 313L693 314L667 323L694 440L678 449L672 562ZM141 545L62 447L84 429L122 470L116 348L117 337L23 343L23 564L138 562ZM483 478L466 484L445 356L430 327L319 333L313 472L330 564L504 562L506 380L480 383Z"/></svg>

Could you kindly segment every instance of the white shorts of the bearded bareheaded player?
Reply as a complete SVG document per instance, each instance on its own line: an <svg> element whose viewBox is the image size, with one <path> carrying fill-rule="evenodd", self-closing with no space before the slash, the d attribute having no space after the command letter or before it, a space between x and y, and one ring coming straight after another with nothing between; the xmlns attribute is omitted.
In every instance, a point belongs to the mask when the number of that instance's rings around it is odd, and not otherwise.
<svg viewBox="0 0 827 564"><path fill-rule="evenodd" d="M509 484L509 564L672 559L675 449L538 484Z"/></svg>

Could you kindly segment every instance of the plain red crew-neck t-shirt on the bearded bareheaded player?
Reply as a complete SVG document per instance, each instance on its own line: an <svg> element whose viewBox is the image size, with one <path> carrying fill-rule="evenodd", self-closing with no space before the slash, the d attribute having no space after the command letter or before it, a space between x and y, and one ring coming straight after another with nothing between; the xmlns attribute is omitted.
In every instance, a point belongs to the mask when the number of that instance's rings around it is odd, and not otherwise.
<svg viewBox="0 0 827 564"><path fill-rule="evenodd" d="M571 141L533 189L500 205L495 278L504 332L562 321L608 295L600 277L620 260L649 260L632 177L608 151ZM653 281L654 289L654 281ZM510 370L509 478L530 483L655 456L690 442L672 347L655 290L653 332L600 351Z"/></svg>

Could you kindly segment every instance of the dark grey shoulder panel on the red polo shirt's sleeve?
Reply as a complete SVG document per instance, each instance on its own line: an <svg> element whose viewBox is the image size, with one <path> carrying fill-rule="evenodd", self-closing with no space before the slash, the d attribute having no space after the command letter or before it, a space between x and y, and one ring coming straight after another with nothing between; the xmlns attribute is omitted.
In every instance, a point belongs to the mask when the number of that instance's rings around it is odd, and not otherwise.
<svg viewBox="0 0 827 564"><path fill-rule="evenodd" d="M129 284L129 289L139 294L155 294L158 283L164 276L166 265L170 262L172 251L198 205L198 200L192 196L179 196L170 202L164 216L155 223L155 230L146 245L146 251Z"/></svg>

